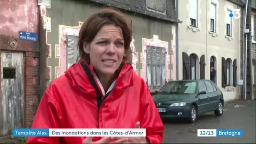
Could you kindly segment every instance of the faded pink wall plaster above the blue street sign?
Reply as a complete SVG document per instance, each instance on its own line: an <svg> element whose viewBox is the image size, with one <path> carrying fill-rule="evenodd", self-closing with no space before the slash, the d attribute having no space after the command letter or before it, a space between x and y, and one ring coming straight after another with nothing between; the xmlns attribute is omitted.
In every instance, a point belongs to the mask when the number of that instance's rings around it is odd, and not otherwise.
<svg viewBox="0 0 256 144"><path fill-rule="evenodd" d="M0 35L19 38L19 31L37 29L37 0L0 0Z"/></svg>

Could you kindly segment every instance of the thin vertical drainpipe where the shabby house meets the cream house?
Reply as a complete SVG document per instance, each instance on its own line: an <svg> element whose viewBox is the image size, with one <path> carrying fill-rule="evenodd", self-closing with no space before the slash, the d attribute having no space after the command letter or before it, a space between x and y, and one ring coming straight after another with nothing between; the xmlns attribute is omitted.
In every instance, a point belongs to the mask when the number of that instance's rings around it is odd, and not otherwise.
<svg viewBox="0 0 256 144"><path fill-rule="evenodd" d="M179 19L179 0L176 0L176 14ZM179 80L179 23L176 23L176 80Z"/></svg>

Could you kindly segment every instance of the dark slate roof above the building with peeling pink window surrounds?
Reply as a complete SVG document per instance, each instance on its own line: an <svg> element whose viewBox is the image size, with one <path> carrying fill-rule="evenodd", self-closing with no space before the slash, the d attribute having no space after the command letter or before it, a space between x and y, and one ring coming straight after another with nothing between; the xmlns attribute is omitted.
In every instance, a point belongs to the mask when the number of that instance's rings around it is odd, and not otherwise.
<svg viewBox="0 0 256 144"><path fill-rule="evenodd" d="M140 13L146 16L151 16L151 17L162 19L165 21L182 23L182 21L177 19L175 5L173 3L174 0L165 0L166 15L149 11L146 7L145 0L89 0L89 1L100 3L103 5L109 5L109 6L120 8L127 11Z"/></svg>

